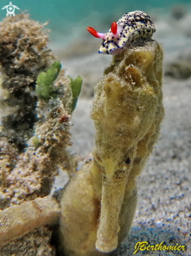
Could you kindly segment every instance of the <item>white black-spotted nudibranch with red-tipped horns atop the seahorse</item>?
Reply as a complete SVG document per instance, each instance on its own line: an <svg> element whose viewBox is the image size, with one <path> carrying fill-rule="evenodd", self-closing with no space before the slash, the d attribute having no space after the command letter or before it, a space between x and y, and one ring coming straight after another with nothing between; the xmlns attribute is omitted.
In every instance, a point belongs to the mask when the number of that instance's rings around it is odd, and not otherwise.
<svg viewBox="0 0 191 256"><path fill-rule="evenodd" d="M98 53L120 54L124 49L137 46L152 37L156 31L149 15L140 10L126 13L117 23L113 22L108 33L99 33L91 27L87 30L94 37L103 39Z"/></svg>

